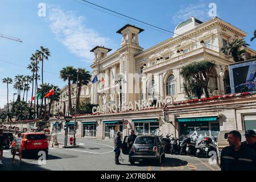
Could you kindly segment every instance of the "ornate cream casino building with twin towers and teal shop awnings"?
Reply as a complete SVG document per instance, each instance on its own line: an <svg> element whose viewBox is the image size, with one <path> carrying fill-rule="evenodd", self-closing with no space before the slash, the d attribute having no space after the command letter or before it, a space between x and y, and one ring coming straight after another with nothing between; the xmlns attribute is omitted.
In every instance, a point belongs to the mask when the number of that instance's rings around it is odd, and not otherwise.
<svg viewBox="0 0 256 182"><path fill-rule="evenodd" d="M214 137L220 130L256 129L256 96L230 94L228 65L234 61L220 52L230 40L245 38L246 32L217 17L206 22L191 17L176 26L173 37L143 49L139 44L143 31L126 24L117 31L122 40L116 51L97 45L92 49L92 80L97 76L97 81L85 93L99 106L94 114L77 115L78 137L111 140L118 130L122 137L130 130L137 135ZM245 60L256 55L253 49L245 49ZM217 64L210 73L210 98L187 101L180 70L202 60ZM64 125L64 118L52 118L51 129L64 134L63 126L53 127L61 121ZM70 131L73 125L71 121Z"/></svg>

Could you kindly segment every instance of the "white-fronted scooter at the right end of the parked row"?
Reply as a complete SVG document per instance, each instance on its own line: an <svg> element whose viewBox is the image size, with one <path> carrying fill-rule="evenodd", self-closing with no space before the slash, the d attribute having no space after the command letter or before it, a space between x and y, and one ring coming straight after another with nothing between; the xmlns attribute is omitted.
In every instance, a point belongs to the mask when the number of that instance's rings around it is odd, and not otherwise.
<svg viewBox="0 0 256 182"><path fill-rule="evenodd" d="M205 156L208 158L210 151L217 152L216 144L213 143L210 137L200 135L196 142L196 157Z"/></svg>

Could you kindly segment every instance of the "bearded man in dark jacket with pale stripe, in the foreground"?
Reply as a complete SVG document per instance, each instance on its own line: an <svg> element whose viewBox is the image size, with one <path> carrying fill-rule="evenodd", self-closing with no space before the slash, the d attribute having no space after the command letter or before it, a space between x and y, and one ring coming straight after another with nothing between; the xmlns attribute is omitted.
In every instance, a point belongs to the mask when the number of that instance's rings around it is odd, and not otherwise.
<svg viewBox="0 0 256 182"><path fill-rule="evenodd" d="M228 133L229 146L221 152L221 171L256 171L256 153L242 145L239 131Z"/></svg>

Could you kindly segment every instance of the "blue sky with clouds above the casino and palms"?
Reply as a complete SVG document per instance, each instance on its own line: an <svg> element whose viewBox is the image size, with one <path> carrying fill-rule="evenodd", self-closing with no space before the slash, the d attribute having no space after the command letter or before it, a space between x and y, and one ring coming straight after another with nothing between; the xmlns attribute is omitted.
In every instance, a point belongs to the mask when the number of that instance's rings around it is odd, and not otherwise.
<svg viewBox="0 0 256 182"><path fill-rule="evenodd" d="M76 0L82 2L81 0ZM132 16L144 22L174 31L177 23L191 15L201 20L210 19L209 3L216 3L217 16L247 32L246 41L256 49L256 41L250 42L256 29L256 1L119 1L89 0L101 6ZM38 16L39 3L46 4L46 16ZM82 2L84 3L84 2ZM31 74L25 67L30 56L40 46L50 49L51 57L44 64L44 82L62 88L66 83L59 78L59 71L67 65L86 68L89 71L93 54L90 49L102 46L117 49L121 35L115 32L126 23L144 28L139 36L143 48L154 46L172 35L144 27L129 19L103 13L72 0L0 0L0 34L14 36L23 43L0 38L0 78ZM9 100L15 90L10 89ZM6 85L0 83L0 107L6 104ZM31 96L31 94L30 94Z"/></svg>

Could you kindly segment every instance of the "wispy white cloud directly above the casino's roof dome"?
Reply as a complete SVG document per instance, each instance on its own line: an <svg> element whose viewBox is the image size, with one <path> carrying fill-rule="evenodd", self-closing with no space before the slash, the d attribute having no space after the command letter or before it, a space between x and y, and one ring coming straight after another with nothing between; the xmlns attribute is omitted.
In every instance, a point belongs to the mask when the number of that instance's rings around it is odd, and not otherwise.
<svg viewBox="0 0 256 182"><path fill-rule="evenodd" d="M177 25L191 18L191 16L195 16L195 18L204 21L210 18L208 12L209 8L207 3L202 1L188 6L181 6L180 10L172 16L172 23Z"/></svg>

